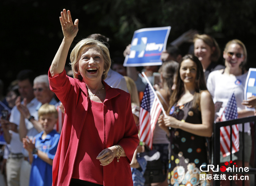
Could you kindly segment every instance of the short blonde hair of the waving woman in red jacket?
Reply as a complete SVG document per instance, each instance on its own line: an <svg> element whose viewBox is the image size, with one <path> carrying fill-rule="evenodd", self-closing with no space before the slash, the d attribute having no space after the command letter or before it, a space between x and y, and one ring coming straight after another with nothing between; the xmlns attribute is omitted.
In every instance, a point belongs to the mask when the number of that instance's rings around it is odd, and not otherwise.
<svg viewBox="0 0 256 186"><path fill-rule="evenodd" d="M102 56L104 59L104 69L105 69L105 71L102 74L102 79L104 80L107 77L108 70L110 69L110 65L111 65L111 59L110 59L108 47L106 47L106 45L104 45L104 43L102 43L98 40L95 40L92 38L86 38L86 39L82 39L81 41L79 41L70 54L70 65L72 68L74 78L82 80L82 76L78 72L78 69L79 69L78 61L80 59L82 49L84 50L84 49L86 49L88 47L92 47L92 46L97 47L102 52Z"/></svg>

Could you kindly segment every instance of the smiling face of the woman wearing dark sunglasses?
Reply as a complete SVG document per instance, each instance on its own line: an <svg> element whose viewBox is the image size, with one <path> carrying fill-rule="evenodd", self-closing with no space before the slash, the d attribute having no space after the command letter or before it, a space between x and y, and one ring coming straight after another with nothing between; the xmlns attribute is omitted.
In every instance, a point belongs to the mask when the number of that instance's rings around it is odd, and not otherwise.
<svg viewBox="0 0 256 186"><path fill-rule="evenodd" d="M244 61L244 51L242 47L236 43L232 43L228 46L228 49L223 52L223 58L225 59L225 66L231 69L240 68L240 64Z"/></svg>

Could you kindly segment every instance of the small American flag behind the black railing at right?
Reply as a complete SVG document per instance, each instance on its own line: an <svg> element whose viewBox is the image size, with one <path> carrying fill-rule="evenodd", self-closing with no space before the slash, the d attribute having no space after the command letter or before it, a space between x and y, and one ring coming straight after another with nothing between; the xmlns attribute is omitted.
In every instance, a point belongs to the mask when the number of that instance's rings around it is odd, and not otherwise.
<svg viewBox="0 0 256 186"><path fill-rule="evenodd" d="M222 113L220 121L237 119L237 105L234 93L228 100L228 104ZM230 126L220 127L220 151L223 157L230 155ZM238 124L232 125L232 154L239 151L239 129Z"/></svg>

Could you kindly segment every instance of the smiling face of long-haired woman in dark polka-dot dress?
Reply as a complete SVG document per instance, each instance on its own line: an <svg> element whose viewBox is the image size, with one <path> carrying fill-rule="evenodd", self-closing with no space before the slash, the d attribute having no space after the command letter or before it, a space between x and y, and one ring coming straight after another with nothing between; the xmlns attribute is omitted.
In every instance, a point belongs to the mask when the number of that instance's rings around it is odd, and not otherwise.
<svg viewBox="0 0 256 186"><path fill-rule="evenodd" d="M195 83L196 81L197 66L191 59L185 59L180 64L180 78L186 83Z"/></svg>

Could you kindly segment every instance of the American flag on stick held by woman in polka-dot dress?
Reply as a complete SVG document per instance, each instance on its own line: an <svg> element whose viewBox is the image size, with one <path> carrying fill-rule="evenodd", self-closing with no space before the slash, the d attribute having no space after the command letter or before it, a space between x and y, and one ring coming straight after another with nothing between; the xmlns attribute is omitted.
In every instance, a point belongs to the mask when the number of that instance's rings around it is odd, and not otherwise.
<svg viewBox="0 0 256 186"><path fill-rule="evenodd" d="M140 141L145 142L150 149L152 149L153 131L161 112L161 106L153 90L147 85L140 106Z"/></svg>

